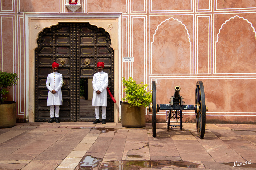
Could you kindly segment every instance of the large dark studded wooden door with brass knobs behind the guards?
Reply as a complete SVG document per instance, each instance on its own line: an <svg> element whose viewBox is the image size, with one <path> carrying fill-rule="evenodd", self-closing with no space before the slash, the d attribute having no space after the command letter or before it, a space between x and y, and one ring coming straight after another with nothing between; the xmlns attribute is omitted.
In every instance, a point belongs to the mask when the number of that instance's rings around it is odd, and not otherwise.
<svg viewBox="0 0 256 170"><path fill-rule="evenodd" d="M60 121L92 121L80 116L80 79L93 78L97 62L104 62L109 74L109 89L114 93L114 52L109 34L89 23L60 23L44 29L35 50L35 121L48 121L47 75L51 64L59 63L63 76ZM89 86L90 84L88 84ZM92 85L91 85L92 86ZM108 95L106 121L114 121L114 103Z"/></svg>

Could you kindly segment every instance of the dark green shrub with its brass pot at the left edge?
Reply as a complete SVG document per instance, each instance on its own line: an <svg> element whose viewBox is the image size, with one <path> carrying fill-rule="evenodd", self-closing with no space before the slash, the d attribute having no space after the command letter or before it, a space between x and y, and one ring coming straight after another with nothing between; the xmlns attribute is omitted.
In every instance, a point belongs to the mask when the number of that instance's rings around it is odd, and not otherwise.
<svg viewBox="0 0 256 170"><path fill-rule="evenodd" d="M0 70L0 128L12 127L16 124L16 102L5 101L7 98L3 95L9 93L7 88L16 85L17 80L16 73Z"/></svg>

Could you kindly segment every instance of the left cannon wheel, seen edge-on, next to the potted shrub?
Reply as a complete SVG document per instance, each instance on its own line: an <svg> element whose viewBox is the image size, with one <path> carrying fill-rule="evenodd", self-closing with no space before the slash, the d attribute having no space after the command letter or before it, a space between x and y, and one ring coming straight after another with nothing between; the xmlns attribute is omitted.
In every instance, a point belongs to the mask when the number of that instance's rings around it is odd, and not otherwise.
<svg viewBox="0 0 256 170"><path fill-rule="evenodd" d="M156 137L156 81L152 81L152 132Z"/></svg>

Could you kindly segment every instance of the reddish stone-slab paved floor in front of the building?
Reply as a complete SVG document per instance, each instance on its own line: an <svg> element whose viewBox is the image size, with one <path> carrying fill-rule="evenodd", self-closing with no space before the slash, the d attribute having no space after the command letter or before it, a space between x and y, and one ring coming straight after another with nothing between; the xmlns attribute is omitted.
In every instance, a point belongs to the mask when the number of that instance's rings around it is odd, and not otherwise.
<svg viewBox="0 0 256 170"><path fill-rule="evenodd" d="M0 169L256 169L256 125L17 123L0 129ZM236 166L234 166L236 164Z"/></svg>

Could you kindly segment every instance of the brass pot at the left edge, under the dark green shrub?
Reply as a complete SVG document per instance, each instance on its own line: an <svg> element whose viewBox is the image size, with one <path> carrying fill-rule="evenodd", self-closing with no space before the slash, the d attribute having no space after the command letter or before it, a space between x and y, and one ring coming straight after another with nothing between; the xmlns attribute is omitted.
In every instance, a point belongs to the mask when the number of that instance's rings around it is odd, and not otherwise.
<svg viewBox="0 0 256 170"><path fill-rule="evenodd" d="M0 104L0 128L13 127L16 124L16 102L4 101Z"/></svg>

